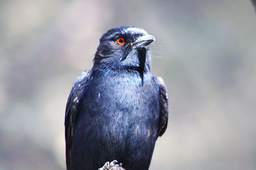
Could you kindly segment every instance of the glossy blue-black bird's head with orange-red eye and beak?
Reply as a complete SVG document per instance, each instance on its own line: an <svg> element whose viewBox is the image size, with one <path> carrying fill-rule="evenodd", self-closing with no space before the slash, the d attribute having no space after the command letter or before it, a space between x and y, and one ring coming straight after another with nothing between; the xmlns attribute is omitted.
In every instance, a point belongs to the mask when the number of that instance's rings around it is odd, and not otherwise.
<svg viewBox="0 0 256 170"><path fill-rule="evenodd" d="M138 27L122 26L110 29L100 38L93 69L115 71L150 71L148 45L155 40Z"/></svg>

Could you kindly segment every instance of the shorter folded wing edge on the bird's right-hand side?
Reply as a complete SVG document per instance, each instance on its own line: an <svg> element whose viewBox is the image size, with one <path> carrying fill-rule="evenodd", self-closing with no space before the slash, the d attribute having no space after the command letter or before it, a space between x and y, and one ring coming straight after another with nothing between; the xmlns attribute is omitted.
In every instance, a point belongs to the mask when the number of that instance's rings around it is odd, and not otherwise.
<svg viewBox="0 0 256 170"><path fill-rule="evenodd" d="M158 125L158 136L162 136L166 130L168 123L168 94L166 85L163 78L156 77L156 81L159 85L159 104L160 104L160 118Z"/></svg>

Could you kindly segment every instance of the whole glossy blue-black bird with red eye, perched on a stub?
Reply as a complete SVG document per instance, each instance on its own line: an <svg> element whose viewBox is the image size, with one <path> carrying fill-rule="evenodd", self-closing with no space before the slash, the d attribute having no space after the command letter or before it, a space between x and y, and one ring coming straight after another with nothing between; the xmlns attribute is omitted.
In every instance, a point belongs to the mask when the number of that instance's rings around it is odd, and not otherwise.
<svg viewBox="0 0 256 170"><path fill-rule="evenodd" d="M154 40L131 26L100 38L92 70L79 74L67 101L68 170L95 170L114 159L127 170L148 169L168 122L166 86L150 73Z"/></svg>

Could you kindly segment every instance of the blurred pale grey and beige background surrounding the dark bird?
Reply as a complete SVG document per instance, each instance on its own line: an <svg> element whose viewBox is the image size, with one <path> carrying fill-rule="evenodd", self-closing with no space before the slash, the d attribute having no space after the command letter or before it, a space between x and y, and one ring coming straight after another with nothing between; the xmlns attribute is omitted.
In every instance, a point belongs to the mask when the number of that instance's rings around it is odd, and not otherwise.
<svg viewBox="0 0 256 170"><path fill-rule="evenodd" d="M120 25L156 37L168 86L150 169L256 169L256 14L239 0L0 1L0 169L65 169L72 83Z"/></svg>

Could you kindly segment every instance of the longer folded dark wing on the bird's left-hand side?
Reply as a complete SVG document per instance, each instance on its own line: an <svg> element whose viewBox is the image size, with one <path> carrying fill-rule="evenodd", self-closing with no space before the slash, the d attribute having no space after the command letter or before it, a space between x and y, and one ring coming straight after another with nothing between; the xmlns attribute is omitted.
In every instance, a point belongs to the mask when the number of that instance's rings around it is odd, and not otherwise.
<svg viewBox="0 0 256 170"><path fill-rule="evenodd" d="M65 139L66 139L66 164L67 170L71 170L70 151L72 145L72 136L76 124L77 112L79 103L84 96L84 90L91 80L92 71L86 70L79 74L72 90L68 96L66 111L65 111Z"/></svg>

